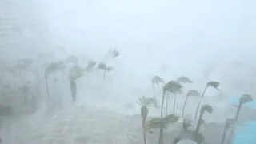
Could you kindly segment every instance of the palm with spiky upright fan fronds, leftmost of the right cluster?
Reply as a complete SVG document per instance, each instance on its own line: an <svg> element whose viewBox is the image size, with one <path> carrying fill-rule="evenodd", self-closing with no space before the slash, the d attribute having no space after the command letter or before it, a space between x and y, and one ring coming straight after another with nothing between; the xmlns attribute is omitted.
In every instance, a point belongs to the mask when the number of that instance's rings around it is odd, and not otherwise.
<svg viewBox="0 0 256 144"><path fill-rule="evenodd" d="M144 138L144 144L146 144L146 117L149 113L148 106L154 106L155 99L152 97L141 97L139 98L139 101L137 102L141 107L141 116L142 116L142 128L144 130L143 132L143 138Z"/></svg>

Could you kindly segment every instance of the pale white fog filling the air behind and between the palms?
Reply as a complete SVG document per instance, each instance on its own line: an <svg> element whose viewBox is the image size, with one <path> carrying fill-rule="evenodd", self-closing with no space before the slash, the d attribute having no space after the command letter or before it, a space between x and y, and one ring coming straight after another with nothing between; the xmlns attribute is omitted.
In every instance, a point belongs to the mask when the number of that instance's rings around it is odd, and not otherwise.
<svg viewBox="0 0 256 144"><path fill-rule="evenodd" d="M32 142L35 136L18 138L17 135L24 133L21 131L26 128L16 125L31 127L30 124L34 123L44 127L54 116L77 114L74 116L77 118L88 114L91 109L139 115L140 106L135 102L141 96L154 96L151 79L156 75L165 82L177 80L180 76L190 78L193 83L184 84L183 95L188 90L201 93L206 82L220 82L220 90L206 91L203 103L214 107L214 113L206 115L206 121L224 122L225 118L234 117L235 110L230 112L227 109L230 97L251 94L256 98L255 5L252 0L0 1L1 65L14 66L18 59L33 58L30 69L37 70L46 62L58 62L75 55L78 65L86 66L88 60L106 62L104 56L110 49L120 52L120 56L108 60L107 64L114 70L106 73L105 80L103 70L97 69L78 80L75 103L72 103L67 74L57 76L57 87L52 79L49 80L50 108L46 104L43 75L36 80L36 74L17 76L18 86L33 81L32 89L39 87L34 93L40 101L34 107L23 106L22 98L18 96L14 97L18 98L15 100L2 101L3 105L13 106L18 114L18 118L15 114L14 118L2 118L2 142ZM38 64L38 54L48 53L51 53L50 58ZM13 85L10 74L2 73L1 78L1 86ZM156 93L160 104L162 89L156 87ZM178 95L178 113L182 112L184 99L182 94ZM172 101L170 97L170 104ZM199 98L190 101L187 113L194 115ZM47 110L51 109L50 116L49 111L46 112L47 106ZM79 113L76 106L85 106L88 113ZM172 111L171 105L169 111ZM150 108L150 116L160 116L159 112ZM12 121L8 122L8 118ZM48 134L46 131L42 133ZM37 142L41 142L38 137Z"/></svg>

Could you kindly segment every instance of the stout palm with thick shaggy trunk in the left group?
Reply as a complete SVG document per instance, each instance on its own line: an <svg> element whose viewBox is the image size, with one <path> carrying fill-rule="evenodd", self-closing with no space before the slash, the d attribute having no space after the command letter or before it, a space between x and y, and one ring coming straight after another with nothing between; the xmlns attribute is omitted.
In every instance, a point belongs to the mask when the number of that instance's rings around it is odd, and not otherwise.
<svg viewBox="0 0 256 144"><path fill-rule="evenodd" d="M79 66L73 66L70 69L70 91L72 94L73 102L76 101L77 84L76 80L84 75L84 70Z"/></svg>

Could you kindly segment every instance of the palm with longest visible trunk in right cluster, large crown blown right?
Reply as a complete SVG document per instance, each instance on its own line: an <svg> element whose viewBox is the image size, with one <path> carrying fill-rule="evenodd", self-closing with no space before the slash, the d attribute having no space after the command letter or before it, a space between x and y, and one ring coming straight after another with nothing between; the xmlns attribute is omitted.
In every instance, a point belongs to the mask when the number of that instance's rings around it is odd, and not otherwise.
<svg viewBox="0 0 256 144"><path fill-rule="evenodd" d="M170 81L166 83L162 90L162 104L161 104L161 118L162 118L162 111L163 111L163 104L165 99L165 94L167 91L170 91L176 94L177 91L182 91L182 85L179 84L177 81ZM163 144L163 122L160 126L160 135L159 135L159 144Z"/></svg>

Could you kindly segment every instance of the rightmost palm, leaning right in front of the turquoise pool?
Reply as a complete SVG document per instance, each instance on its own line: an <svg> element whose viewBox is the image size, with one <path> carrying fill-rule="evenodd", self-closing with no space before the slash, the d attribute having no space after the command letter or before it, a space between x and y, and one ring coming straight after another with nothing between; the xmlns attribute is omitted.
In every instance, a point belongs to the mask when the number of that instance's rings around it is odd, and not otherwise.
<svg viewBox="0 0 256 144"><path fill-rule="evenodd" d="M236 123L238 122L238 116L240 114L242 105L244 105L247 102L252 102L254 99L252 98L252 96L250 94L242 94L242 96L239 99L239 106L238 106L238 110L234 116L234 126L232 126L231 130L230 130L230 137L229 140L227 142L227 144L230 144L230 142L232 141L233 135L234 135L234 130L235 130L235 126Z"/></svg>

